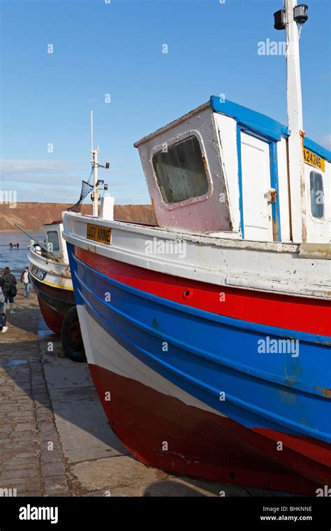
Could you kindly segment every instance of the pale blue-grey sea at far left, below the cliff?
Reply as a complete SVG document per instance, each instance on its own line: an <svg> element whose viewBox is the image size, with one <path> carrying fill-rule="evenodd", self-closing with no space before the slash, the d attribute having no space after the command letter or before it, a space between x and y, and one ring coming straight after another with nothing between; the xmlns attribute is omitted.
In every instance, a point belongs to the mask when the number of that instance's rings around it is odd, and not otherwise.
<svg viewBox="0 0 331 531"><path fill-rule="evenodd" d="M43 231L30 231L31 236L43 242L45 233ZM23 233L17 231L0 232L0 270L8 267L17 279L24 268L29 266L27 259L27 249L31 239ZM9 244L19 244L18 249L10 249Z"/></svg>

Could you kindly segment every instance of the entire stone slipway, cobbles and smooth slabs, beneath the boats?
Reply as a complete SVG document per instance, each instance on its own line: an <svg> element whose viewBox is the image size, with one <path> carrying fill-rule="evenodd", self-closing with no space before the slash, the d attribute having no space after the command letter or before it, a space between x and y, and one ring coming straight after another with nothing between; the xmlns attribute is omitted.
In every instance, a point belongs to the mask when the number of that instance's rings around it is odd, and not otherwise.
<svg viewBox="0 0 331 531"><path fill-rule="evenodd" d="M16 302L0 333L0 496L281 495L139 463L108 427L86 363L59 357L36 295L19 286Z"/></svg>

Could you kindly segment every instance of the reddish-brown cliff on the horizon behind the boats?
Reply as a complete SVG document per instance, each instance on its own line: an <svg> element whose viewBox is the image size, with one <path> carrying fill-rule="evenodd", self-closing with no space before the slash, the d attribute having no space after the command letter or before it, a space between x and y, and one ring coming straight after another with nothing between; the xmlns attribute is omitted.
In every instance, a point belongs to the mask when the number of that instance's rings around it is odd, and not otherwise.
<svg viewBox="0 0 331 531"><path fill-rule="evenodd" d="M43 224L61 219L61 212L71 205L64 203L16 203L15 208L0 205L0 231L18 230L14 223L27 231L43 230ZM84 214L91 214L91 205L82 205ZM136 223L156 224L152 205L115 205L115 219Z"/></svg>

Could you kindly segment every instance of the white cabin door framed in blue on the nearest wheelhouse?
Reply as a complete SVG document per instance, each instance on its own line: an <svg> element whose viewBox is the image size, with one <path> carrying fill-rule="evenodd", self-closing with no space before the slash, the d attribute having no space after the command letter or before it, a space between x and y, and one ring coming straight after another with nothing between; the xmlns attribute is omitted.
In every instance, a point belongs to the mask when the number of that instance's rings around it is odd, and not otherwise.
<svg viewBox="0 0 331 531"><path fill-rule="evenodd" d="M272 242L269 144L242 131L241 146L244 238Z"/></svg>

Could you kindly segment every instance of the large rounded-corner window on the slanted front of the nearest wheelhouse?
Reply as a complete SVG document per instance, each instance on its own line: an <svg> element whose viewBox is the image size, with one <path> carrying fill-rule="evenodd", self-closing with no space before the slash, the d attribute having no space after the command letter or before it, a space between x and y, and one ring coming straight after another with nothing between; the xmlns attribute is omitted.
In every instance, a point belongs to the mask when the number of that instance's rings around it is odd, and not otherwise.
<svg viewBox="0 0 331 531"><path fill-rule="evenodd" d="M165 203L179 203L207 194L207 173L196 136L157 152L152 163Z"/></svg>

